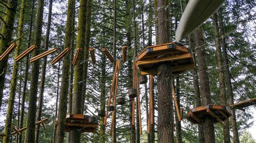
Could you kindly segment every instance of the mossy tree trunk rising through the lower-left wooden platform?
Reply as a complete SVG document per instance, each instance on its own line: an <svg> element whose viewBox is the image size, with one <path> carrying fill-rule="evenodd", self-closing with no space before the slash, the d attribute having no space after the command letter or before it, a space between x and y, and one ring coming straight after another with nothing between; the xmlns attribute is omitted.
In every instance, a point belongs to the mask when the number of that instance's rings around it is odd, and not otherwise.
<svg viewBox="0 0 256 143"><path fill-rule="evenodd" d="M85 29L86 29L86 0L80 0L80 8L78 13L78 33L77 33L77 48L85 50ZM84 59L84 53L78 54L78 59ZM77 62L74 71L74 87L73 87L73 98L72 98L72 113L81 114L83 104L83 63ZM70 131L70 142L80 142L81 133L76 129L72 128Z"/></svg>

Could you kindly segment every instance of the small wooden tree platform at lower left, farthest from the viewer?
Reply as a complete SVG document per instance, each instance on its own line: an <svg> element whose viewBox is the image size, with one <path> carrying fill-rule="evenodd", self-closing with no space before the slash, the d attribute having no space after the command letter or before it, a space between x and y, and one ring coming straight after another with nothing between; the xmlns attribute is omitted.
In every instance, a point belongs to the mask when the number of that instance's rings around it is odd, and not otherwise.
<svg viewBox="0 0 256 143"><path fill-rule="evenodd" d="M84 132L95 133L96 128L98 127L97 119L89 115L68 114L66 115L65 122L66 122L65 132L70 132L72 128L76 128L76 130L79 130L82 133ZM57 125L58 125L58 120L56 120L55 122L56 127Z"/></svg>

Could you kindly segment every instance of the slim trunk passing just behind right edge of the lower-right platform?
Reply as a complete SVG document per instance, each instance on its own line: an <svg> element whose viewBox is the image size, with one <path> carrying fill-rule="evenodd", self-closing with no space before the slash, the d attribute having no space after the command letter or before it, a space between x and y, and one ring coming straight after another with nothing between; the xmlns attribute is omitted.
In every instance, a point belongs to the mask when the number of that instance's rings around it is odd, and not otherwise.
<svg viewBox="0 0 256 143"><path fill-rule="evenodd" d="M225 95L225 87L224 87L224 75L223 75L223 64L221 58L221 45L219 41L219 26L218 26L218 16L217 13L213 14L213 25L214 25L214 39L215 39L215 47L216 47L216 56L218 62L218 79L219 79L219 88L220 88L220 101L222 105L226 105L226 95ZM228 124L228 119L224 121L223 125L224 131L224 142L230 142L230 127Z"/></svg>

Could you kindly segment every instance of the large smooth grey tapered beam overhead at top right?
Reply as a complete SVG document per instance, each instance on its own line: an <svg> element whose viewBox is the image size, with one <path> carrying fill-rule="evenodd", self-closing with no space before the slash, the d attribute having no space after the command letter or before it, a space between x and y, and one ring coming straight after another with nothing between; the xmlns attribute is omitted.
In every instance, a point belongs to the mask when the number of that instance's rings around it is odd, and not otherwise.
<svg viewBox="0 0 256 143"><path fill-rule="evenodd" d="M225 0L189 1L176 30L176 41L179 42L203 24L224 2Z"/></svg>

